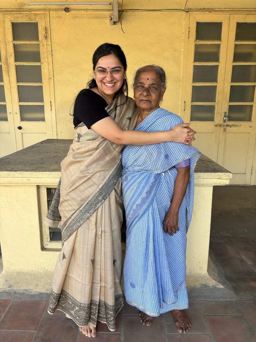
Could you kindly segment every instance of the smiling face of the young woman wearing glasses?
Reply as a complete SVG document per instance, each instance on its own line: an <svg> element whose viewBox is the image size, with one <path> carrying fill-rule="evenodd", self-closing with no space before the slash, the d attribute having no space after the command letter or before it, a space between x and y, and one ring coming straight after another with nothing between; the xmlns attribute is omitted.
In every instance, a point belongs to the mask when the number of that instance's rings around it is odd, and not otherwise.
<svg viewBox="0 0 256 342"><path fill-rule="evenodd" d="M121 76L116 76L114 73L112 75L110 72L107 75L104 75L103 70L110 71L121 69L124 69L124 67L114 55L101 57L95 66L95 80L98 91L109 101L113 100L115 93L122 87L124 78L126 77L126 71L123 70ZM103 75L100 75L100 73L103 73Z"/></svg>

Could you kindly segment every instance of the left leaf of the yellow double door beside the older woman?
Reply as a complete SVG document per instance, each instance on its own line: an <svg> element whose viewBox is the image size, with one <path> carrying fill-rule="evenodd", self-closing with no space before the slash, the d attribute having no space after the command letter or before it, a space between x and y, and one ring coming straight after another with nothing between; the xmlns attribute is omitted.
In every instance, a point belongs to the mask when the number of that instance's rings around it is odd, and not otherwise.
<svg viewBox="0 0 256 342"><path fill-rule="evenodd" d="M184 120L197 131L193 144L214 161L223 97L229 15L191 14L187 47Z"/></svg>

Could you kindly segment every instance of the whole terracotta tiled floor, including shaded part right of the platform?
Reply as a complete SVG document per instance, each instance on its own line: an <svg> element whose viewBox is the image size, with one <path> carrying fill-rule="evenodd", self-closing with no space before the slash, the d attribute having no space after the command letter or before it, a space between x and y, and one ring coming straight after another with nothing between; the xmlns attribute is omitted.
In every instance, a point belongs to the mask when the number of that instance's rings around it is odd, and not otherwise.
<svg viewBox="0 0 256 342"><path fill-rule="evenodd" d="M250 198L253 223L244 218L243 208L239 213L244 198ZM177 333L171 313L143 326L136 308L126 304L116 332L99 324L97 337L87 338L63 313L49 315L44 301L0 299L0 342L256 342L256 187L216 187L213 215L210 248L238 300L190 302L189 333Z"/></svg>

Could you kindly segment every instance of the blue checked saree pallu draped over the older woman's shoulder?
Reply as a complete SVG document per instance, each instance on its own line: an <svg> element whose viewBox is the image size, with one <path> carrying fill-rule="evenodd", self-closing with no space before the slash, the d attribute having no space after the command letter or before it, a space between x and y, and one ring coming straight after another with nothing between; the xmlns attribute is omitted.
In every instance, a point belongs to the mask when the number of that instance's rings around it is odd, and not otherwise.
<svg viewBox="0 0 256 342"><path fill-rule="evenodd" d="M183 121L176 114L163 108L157 108L135 130L166 131L180 123ZM168 172L172 175L174 184L177 174L174 166L186 159L190 161L190 177L185 194L188 229L193 210L194 169L200 155L197 148L174 142L124 147L122 185L127 221L126 234L129 234L130 224L134 220L138 220L140 214L143 214L151 206L164 173ZM138 188L136 187L137 182Z"/></svg>

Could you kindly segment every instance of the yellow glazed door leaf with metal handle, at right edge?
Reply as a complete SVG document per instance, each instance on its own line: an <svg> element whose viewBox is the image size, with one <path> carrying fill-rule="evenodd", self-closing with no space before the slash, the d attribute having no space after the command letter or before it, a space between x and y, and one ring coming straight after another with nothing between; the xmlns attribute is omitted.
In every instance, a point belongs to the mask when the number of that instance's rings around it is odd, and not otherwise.
<svg viewBox="0 0 256 342"><path fill-rule="evenodd" d="M251 183L256 141L255 86L256 15L234 14L230 16L217 158L232 172L231 184Z"/></svg>

